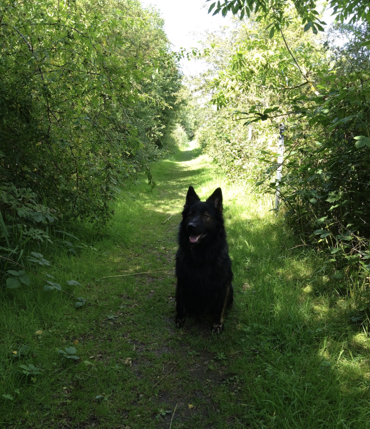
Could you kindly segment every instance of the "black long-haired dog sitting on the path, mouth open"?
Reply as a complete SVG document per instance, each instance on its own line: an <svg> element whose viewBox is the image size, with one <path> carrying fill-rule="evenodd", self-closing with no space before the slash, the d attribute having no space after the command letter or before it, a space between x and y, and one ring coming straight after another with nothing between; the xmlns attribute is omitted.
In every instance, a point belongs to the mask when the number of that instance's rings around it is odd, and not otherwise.
<svg viewBox="0 0 370 429"><path fill-rule="evenodd" d="M182 217L176 254L176 325L183 325L186 314L207 312L213 317L213 332L220 333L234 293L221 188L202 202L190 186Z"/></svg>

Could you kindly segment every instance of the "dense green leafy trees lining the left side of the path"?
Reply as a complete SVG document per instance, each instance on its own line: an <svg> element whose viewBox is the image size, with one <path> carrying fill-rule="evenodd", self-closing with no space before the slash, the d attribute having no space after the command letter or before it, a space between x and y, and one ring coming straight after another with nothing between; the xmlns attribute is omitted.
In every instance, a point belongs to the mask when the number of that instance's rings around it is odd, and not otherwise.
<svg viewBox="0 0 370 429"><path fill-rule="evenodd" d="M138 171L154 184L150 162L180 109L162 26L137 0L0 4L4 257L23 265L29 240L47 242L61 220L105 224Z"/></svg>

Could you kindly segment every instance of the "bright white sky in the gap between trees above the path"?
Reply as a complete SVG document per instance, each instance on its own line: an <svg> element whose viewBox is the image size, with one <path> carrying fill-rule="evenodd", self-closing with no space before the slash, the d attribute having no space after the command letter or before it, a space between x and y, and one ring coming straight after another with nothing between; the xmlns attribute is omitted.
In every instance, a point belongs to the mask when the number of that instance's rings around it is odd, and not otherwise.
<svg viewBox="0 0 370 429"><path fill-rule="evenodd" d="M205 0L141 0L143 6L152 4L159 9L162 18L165 20L164 30L168 39L173 44L173 49L180 47L194 48L199 47L198 42L200 33L205 30L217 30L223 25L227 25L228 18L223 18L221 14L208 15L208 8L212 2ZM197 35L198 33L198 35ZM183 60L181 62L182 70L185 75L195 75L203 71L204 66L201 61Z"/></svg>

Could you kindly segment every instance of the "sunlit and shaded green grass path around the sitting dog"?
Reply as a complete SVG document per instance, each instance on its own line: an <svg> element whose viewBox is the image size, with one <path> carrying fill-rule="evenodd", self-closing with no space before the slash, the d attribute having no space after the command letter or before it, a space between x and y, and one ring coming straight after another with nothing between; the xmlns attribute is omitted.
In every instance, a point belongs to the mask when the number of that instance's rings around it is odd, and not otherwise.
<svg viewBox="0 0 370 429"><path fill-rule="evenodd" d="M96 251L59 253L40 269L87 305L75 310L74 297L37 279L0 291L1 427L169 428L172 417L173 429L370 427L370 341L348 321L346 300L275 222L267 197L227 184L190 149L153 166L153 192L144 179L124 188L103 235L80 231ZM190 184L203 198L223 189L235 303L222 335L208 318L174 327ZM127 275L138 272L151 273ZM82 287L64 286L71 278ZM79 360L57 352L69 346ZM26 364L39 373L23 374Z"/></svg>

